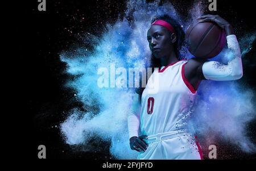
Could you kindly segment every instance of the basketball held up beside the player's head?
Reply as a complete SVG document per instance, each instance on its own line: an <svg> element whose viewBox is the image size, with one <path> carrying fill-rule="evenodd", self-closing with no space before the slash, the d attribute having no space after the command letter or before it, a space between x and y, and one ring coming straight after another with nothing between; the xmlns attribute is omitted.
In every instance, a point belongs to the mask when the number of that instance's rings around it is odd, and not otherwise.
<svg viewBox="0 0 256 171"><path fill-rule="evenodd" d="M185 34L189 52L202 59L217 56L226 44L226 34L220 26L212 22L189 26Z"/></svg>

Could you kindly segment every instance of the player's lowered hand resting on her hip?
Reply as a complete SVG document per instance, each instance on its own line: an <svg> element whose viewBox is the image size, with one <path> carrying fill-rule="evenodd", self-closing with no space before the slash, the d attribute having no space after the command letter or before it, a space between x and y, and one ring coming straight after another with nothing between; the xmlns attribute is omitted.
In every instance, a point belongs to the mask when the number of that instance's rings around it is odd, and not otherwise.
<svg viewBox="0 0 256 171"><path fill-rule="evenodd" d="M148 145L147 143L143 140L143 139L147 139L146 135L142 135L142 136L133 136L130 138L130 147L133 150L136 150L138 152L141 151L146 151Z"/></svg>

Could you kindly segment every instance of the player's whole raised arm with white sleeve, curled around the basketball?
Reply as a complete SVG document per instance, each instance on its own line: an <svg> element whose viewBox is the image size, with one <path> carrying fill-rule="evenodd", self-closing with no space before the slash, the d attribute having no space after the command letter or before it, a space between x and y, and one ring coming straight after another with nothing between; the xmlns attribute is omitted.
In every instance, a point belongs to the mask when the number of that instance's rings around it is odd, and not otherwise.
<svg viewBox="0 0 256 171"><path fill-rule="evenodd" d="M199 22L215 22L225 29L228 48L233 53L233 57L228 65L217 61L193 59L188 62L189 67L187 67L196 70L196 77L199 80L230 81L240 79L243 76L241 51L232 26L218 15L204 15L197 19Z"/></svg>

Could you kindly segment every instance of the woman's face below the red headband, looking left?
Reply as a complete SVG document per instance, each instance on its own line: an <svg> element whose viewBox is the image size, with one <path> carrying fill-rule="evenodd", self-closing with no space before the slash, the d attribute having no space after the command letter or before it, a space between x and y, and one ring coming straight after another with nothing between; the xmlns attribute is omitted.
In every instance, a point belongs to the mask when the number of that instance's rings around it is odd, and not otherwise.
<svg viewBox="0 0 256 171"><path fill-rule="evenodd" d="M173 43L176 40L176 35L171 34L163 26L153 25L147 31L147 40L153 55L160 59L170 56L172 51L174 51Z"/></svg>

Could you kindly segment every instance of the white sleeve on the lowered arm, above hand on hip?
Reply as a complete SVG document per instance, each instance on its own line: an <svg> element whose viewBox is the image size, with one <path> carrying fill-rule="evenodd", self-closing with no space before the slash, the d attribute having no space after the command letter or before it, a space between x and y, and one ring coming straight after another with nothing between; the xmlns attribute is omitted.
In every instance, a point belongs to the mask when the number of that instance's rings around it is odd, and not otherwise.
<svg viewBox="0 0 256 171"><path fill-rule="evenodd" d="M139 94L135 93L131 109L128 112L127 124L129 137L137 136L139 134L139 119L140 119L141 104L139 103Z"/></svg>

